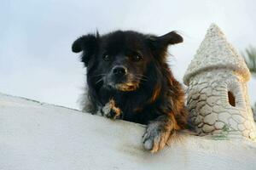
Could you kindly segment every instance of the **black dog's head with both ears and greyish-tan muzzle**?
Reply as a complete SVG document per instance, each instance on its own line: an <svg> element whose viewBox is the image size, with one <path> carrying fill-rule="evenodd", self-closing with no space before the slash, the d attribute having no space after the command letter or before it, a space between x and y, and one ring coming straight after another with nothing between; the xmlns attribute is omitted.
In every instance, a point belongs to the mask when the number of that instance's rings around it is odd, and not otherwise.
<svg viewBox="0 0 256 170"><path fill-rule="evenodd" d="M119 91L134 91L147 82L148 65L163 62L168 45L183 42L175 31L164 36L144 35L136 31L114 31L79 37L73 42L74 53L83 52L87 81L94 86Z"/></svg>

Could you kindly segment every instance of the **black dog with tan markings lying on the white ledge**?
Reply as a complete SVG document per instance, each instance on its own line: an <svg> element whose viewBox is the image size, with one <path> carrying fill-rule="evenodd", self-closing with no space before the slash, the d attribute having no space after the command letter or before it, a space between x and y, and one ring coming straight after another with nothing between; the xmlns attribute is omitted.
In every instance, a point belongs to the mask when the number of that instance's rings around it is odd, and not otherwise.
<svg viewBox="0 0 256 170"><path fill-rule="evenodd" d="M166 64L168 45L178 42L183 37L175 31L161 37L137 31L79 37L72 50L83 52L81 61L87 67L86 110L147 124L144 148L162 149L187 123L183 89Z"/></svg>

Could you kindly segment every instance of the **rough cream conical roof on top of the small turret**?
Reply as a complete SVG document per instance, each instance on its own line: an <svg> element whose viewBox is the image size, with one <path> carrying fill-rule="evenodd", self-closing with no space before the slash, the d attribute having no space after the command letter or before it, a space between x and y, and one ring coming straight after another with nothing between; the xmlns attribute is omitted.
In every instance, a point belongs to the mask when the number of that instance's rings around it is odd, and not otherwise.
<svg viewBox="0 0 256 170"><path fill-rule="evenodd" d="M244 59L227 42L223 31L216 24L212 24L207 30L207 35L191 61L183 77L183 82L189 85L190 77L211 68L234 70L243 75L245 81L248 81L251 77Z"/></svg>

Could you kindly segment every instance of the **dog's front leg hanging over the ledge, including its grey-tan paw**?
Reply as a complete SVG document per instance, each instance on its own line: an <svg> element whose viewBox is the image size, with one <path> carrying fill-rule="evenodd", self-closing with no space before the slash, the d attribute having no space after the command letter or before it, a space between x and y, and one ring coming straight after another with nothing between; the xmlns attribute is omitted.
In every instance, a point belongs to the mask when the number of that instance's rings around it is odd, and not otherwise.
<svg viewBox="0 0 256 170"><path fill-rule="evenodd" d="M166 145L168 139L175 133L177 122L173 115L159 116L148 123L146 132L143 135L143 146L145 150L156 152Z"/></svg>

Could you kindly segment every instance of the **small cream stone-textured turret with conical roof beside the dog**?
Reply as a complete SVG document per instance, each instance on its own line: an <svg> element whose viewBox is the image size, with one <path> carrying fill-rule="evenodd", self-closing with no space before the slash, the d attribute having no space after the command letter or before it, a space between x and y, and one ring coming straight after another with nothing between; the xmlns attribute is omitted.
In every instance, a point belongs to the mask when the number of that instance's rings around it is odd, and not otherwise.
<svg viewBox="0 0 256 170"><path fill-rule="evenodd" d="M199 135L225 133L256 139L249 78L244 59L212 24L183 77L189 115Z"/></svg>

